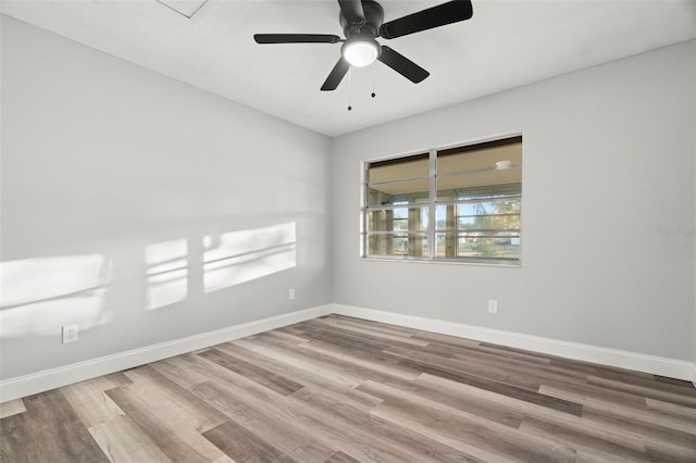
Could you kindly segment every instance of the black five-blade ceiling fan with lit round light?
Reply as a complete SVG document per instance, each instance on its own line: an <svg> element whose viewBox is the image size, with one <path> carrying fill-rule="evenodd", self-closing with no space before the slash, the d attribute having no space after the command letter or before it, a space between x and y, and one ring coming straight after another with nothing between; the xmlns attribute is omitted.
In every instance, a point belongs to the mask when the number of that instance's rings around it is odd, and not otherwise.
<svg viewBox="0 0 696 463"><path fill-rule="evenodd" d="M374 0L338 0L338 21L345 39L328 34L256 34L257 43L338 43L340 59L322 85L322 90L335 90L351 65L362 67L382 61L414 84L430 73L375 39L393 39L469 20L473 15L470 0L453 0L437 7L384 23L384 10Z"/></svg>

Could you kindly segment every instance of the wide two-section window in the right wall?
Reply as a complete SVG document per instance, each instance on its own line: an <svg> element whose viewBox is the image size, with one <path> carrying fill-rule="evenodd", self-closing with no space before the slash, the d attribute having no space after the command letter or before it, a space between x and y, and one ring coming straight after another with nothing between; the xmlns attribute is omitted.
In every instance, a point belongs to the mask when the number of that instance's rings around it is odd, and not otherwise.
<svg viewBox="0 0 696 463"><path fill-rule="evenodd" d="M519 263L522 137L365 163L362 254Z"/></svg>

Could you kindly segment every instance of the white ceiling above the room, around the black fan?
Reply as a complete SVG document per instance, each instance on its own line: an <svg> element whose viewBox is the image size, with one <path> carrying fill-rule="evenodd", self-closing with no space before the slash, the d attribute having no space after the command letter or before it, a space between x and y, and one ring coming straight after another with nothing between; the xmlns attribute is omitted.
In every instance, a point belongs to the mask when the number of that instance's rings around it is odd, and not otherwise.
<svg viewBox="0 0 696 463"><path fill-rule="evenodd" d="M385 22L442 2L380 1ZM339 43L253 41L254 33L343 37L335 0L2 0L0 11L328 136L696 37L695 0L472 2L469 21L380 39L430 71L421 84L377 62L336 91L320 87Z"/></svg>

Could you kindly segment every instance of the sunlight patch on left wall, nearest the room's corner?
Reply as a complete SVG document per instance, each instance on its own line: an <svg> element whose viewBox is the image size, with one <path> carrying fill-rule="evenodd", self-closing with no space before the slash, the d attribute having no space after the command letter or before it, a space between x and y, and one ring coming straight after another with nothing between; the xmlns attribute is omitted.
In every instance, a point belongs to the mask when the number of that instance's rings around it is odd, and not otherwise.
<svg viewBox="0 0 696 463"><path fill-rule="evenodd" d="M206 292L296 266L295 223L203 238Z"/></svg>

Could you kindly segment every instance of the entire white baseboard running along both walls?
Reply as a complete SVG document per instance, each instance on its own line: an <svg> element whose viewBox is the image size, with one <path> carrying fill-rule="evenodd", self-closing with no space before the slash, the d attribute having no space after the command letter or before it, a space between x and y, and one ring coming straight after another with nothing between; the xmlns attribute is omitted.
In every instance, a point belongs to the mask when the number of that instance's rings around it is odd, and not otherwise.
<svg viewBox="0 0 696 463"><path fill-rule="evenodd" d="M268 331L331 313L372 320L374 322L389 323L393 325L440 333L444 335L492 342L519 349L526 349L551 355L583 360L586 362L618 366L621 368L635 370L654 375L691 380L696 387L696 364L692 362L607 349L589 345L567 342L557 339L425 318L414 315L403 315L394 312L350 305L327 304L229 326L186 338L174 339L71 365L46 370L25 376L4 379L0 381L0 402L20 399L34 393L91 379L97 376L121 372L145 363L157 362L158 360L167 359L170 356L179 355L197 349L203 349L221 342L227 342L245 336L256 335L258 333Z"/></svg>

